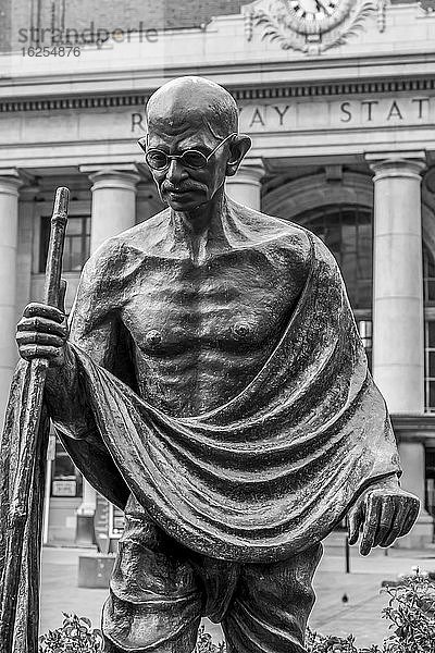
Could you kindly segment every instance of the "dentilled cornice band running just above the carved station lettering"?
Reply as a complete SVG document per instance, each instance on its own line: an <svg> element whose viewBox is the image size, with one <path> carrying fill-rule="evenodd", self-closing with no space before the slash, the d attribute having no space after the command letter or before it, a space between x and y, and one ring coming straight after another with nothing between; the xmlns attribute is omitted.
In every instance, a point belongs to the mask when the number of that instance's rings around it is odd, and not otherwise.
<svg viewBox="0 0 435 653"><path fill-rule="evenodd" d="M0 113L17 111L61 111L72 109L107 109L141 107L154 89L146 94L83 95L61 98L26 98L0 101ZM385 95L398 93L427 93L435 90L435 77L410 79L377 79L374 82L343 82L327 84L283 85L229 89L238 102L256 100L286 100L290 98L334 97L352 95Z"/></svg>

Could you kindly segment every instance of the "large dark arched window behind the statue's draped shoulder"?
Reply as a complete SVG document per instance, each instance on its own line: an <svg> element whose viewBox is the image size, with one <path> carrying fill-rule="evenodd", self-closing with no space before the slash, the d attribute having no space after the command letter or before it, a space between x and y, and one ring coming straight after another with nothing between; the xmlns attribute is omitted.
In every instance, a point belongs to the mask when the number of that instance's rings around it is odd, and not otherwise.
<svg viewBox="0 0 435 653"><path fill-rule="evenodd" d="M352 309L372 309L372 209L330 205L301 213L295 220L316 234L337 259Z"/></svg>

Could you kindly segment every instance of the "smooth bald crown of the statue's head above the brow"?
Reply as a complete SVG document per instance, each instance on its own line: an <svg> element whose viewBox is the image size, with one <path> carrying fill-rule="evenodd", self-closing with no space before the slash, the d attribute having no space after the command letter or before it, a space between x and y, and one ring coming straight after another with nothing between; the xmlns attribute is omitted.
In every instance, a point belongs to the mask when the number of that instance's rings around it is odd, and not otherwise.
<svg viewBox="0 0 435 653"><path fill-rule="evenodd" d="M185 125L207 127L216 138L238 132L238 109L233 96L203 77L178 77L161 86L146 107L148 132L165 124L177 130Z"/></svg>

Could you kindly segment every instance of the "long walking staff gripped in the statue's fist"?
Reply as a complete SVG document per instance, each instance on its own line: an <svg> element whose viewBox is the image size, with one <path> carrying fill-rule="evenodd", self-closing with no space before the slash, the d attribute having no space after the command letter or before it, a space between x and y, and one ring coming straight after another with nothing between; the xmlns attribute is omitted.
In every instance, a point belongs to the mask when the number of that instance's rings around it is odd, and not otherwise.
<svg viewBox="0 0 435 653"><path fill-rule="evenodd" d="M62 255L70 190L57 189L51 217L44 303L59 307ZM39 429L44 386L49 362L34 358L28 364L22 394L23 441L8 517L5 560L2 574L0 652L37 653L39 556L41 547L41 498L47 443ZM44 419L44 418L42 418ZM42 470L42 471L41 471ZM38 485L38 486L37 486ZM37 574L35 574L37 571ZM23 580L24 579L24 580ZM38 609L36 609L38 612ZM14 642L14 633L20 641ZM24 641L23 641L24 640Z"/></svg>

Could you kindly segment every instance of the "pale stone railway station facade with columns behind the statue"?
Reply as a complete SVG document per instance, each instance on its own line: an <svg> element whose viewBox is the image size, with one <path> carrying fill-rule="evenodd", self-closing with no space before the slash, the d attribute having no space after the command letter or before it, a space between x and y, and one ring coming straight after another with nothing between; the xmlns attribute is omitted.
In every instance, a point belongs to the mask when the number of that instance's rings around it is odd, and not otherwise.
<svg viewBox="0 0 435 653"><path fill-rule="evenodd" d="M393 416L403 485L423 505L403 545L432 542L432 2L0 4L1 410L16 321L42 293L55 187L72 195L70 310L89 254L161 209L137 146L145 101L170 78L202 75L233 93L253 143L228 194L314 231L337 257ZM97 498L54 438L49 457L46 539L73 542L76 513L91 517Z"/></svg>

